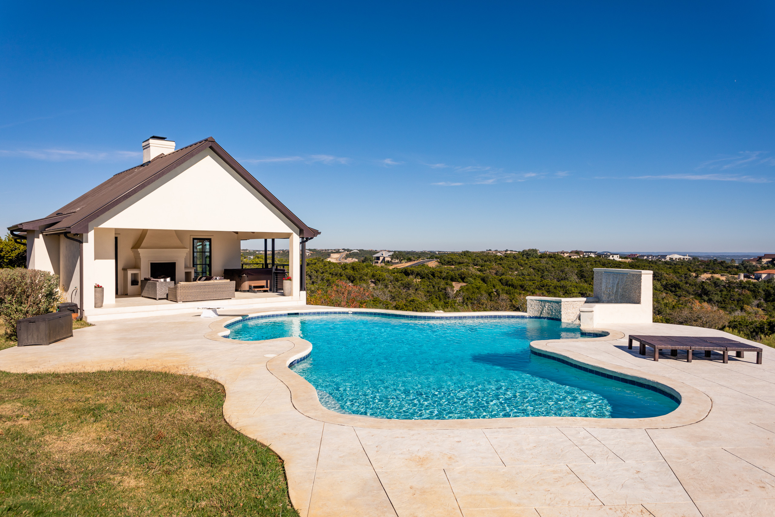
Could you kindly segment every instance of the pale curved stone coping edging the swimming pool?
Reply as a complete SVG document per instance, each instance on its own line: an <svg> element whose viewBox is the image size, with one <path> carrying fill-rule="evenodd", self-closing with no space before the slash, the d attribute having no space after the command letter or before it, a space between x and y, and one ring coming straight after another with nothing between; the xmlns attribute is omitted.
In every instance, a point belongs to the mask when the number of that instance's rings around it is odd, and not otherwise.
<svg viewBox="0 0 775 517"><path fill-rule="evenodd" d="M663 390L668 394L673 394L680 400L678 408L667 415L661 415L650 418L592 418L592 417L509 417L509 418L470 418L470 419L449 419L449 420L402 420L395 418L377 418L364 415L346 415L331 411L323 407L318 399L317 390L307 380L294 373L288 366L305 359L312 352L312 343L301 338L274 338L257 341L243 341L230 339L224 336L229 334L227 324L245 319L257 317L277 317L287 314L310 314L310 313L371 313L387 314L394 316L403 316L418 319L448 319L460 317L530 317L521 312L466 312L466 313L412 313L408 311L389 311L387 309L356 309L344 307L332 307L329 309L299 309L270 311L253 314L246 314L237 317L224 317L219 321L210 324L210 331L205 334L205 338L216 342L228 342L231 344L258 344L274 341L291 342L293 347L276 357L269 359L266 363L267 370L277 379L281 380L291 392L291 403L302 415L308 416L320 422L336 425L350 425L353 427L367 429L497 429L497 428L521 428L521 427L586 427L586 428L608 428L608 429L660 429L680 427L690 425L701 421L711 411L711 399L708 395L697 388L691 387L680 381L669 379L653 373L645 373L640 370L627 368L626 366L613 365L605 363L582 353L571 352L566 349L557 349L553 345L567 345L568 343L615 341L625 337L622 331L616 331L605 328L585 328L582 329L591 333L607 333L607 335L597 338L584 338L584 341L574 339L549 339L539 340L530 343L530 350L540 356L549 359L559 360L570 366L581 370L590 371L601 376L609 378L617 377L618 380L625 382L646 385L654 387L656 390ZM542 318L546 319L546 318Z"/></svg>

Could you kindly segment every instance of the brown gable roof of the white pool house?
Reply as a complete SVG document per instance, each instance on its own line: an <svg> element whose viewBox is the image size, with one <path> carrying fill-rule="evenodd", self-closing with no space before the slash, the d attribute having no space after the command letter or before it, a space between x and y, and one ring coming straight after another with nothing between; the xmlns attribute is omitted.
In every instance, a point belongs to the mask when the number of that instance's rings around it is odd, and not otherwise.
<svg viewBox="0 0 775 517"><path fill-rule="evenodd" d="M300 237L313 238L320 234L315 228L308 227L301 219L288 210L288 207L280 202L267 188L253 178L250 172L239 165L239 163L223 150L213 137L195 142L194 144L181 147L170 154L160 154L151 161L146 161L141 165L129 168L126 171L113 175L112 178L95 186L76 200L67 203L59 210L55 210L47 217L29 220L24 223L15 224L8 229L10 231L37 230L40 226L51 224L46 229L47 233L71 232L82 234L88 231L88 224L101 216L103 213L112 209L114 206L129 199L129 197L139 193L153 182L172 172L179 165L194 158L202 151L211 149L215 154L226 162L229 167L241 176L253 189L256 189L272 206L298 227Z"/></svg>

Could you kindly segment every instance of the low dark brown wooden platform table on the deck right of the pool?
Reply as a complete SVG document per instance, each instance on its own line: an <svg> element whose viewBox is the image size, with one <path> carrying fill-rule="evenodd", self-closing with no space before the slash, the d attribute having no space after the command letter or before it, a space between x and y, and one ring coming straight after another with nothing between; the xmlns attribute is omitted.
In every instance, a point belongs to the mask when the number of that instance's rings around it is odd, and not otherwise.
<svg viewBox="0 0 775 517"><path fill-rule="evenodd" d="M762 363L762 349L735 341L732 338L715 336L683 336L683 335L630 335L627 348L632 350L632 342L640 344L640 355L646 355L646 346L654 349L654 360L660 360L660 350L669 349L671 356L677 356L678 350L687 351L687 363L691 363L691 352L703 350L705 357L711 357L711 352L722 352L723 363L729 363L729 352L736 352L739 358L745 357L745 352L756 352L756 364Z"/></svg>

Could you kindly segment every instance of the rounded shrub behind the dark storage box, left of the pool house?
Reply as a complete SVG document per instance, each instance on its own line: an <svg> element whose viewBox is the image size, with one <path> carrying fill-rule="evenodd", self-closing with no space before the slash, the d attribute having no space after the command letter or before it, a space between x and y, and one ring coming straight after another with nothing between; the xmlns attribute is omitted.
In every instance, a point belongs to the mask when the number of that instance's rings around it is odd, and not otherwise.
<svg viewBox="0 0 775 517"><path fill-rule="evenodd" d="M59 279L40 269L0 269L0 319L5 335L16 336L16 321L57 309Z"/></svg>

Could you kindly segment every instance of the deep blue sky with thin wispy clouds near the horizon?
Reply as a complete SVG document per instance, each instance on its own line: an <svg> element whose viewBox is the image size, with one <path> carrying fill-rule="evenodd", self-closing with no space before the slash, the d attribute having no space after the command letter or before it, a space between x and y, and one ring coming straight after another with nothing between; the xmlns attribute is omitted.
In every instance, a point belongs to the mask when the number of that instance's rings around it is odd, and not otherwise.
<svg viewBox="0 0 775 517"><path fill-rule="evenodd" d="M0 5L2 227L156 134L312 247L775 251L772 2L117 3Z"/></svg>

